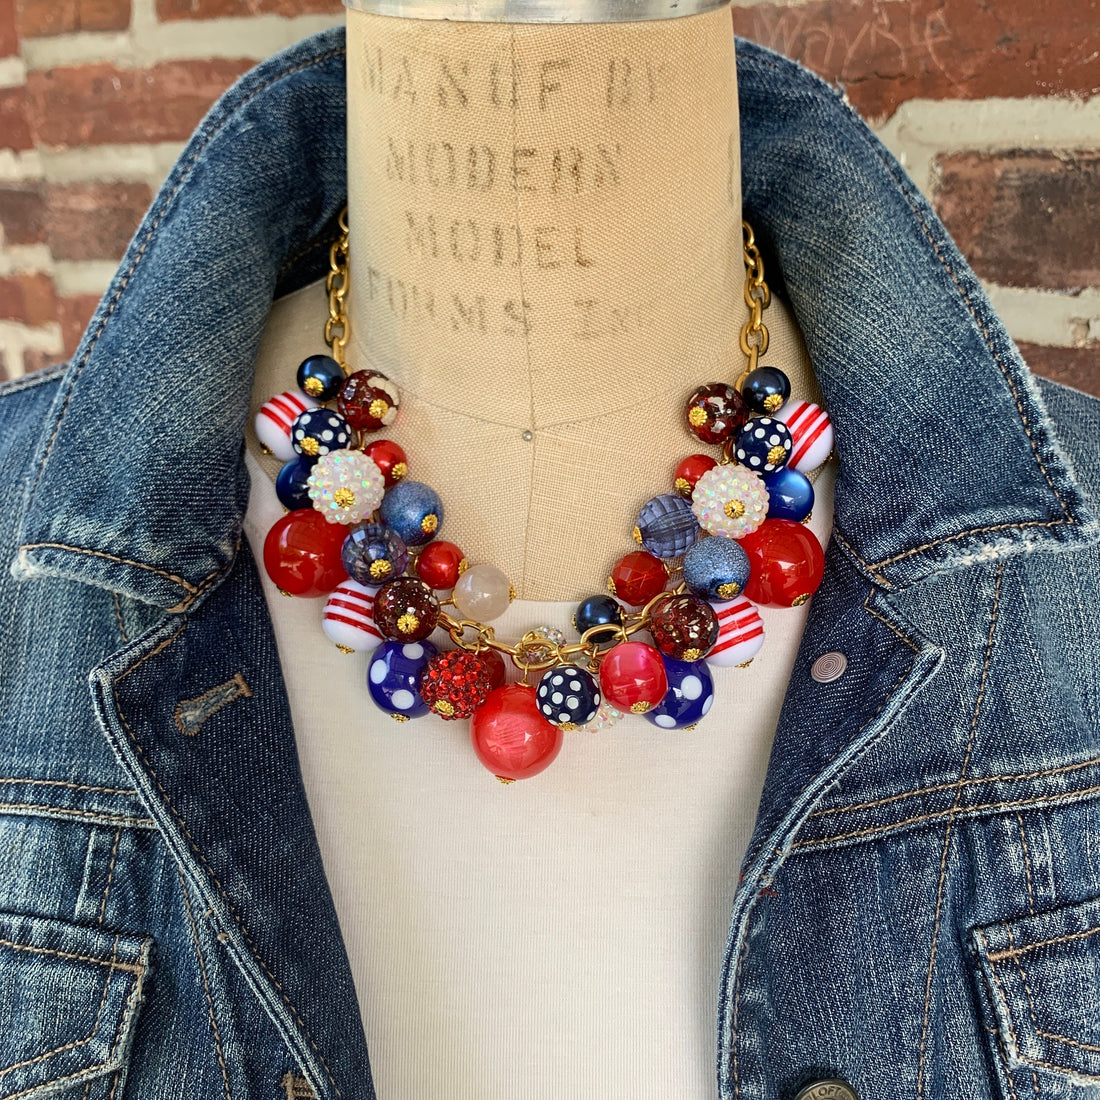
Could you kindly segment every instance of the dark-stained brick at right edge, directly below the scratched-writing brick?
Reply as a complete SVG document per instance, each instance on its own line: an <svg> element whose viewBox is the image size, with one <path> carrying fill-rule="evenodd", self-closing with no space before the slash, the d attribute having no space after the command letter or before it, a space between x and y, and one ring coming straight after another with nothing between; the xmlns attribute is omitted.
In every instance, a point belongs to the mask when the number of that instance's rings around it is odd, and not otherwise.
<svg viewBox="0 0 1100 1100"><path fill-rule="evenodd" d="M1100 286L1100 153L958 153L939 169L936 208L980 276Z"/></svg>

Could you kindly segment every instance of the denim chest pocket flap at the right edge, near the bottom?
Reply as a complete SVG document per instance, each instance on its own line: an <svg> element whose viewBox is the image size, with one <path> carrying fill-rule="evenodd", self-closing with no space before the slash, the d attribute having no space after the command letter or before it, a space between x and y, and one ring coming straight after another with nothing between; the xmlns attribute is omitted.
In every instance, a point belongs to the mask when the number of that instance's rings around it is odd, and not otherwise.
<svg viewBox="0 0 1100 1100"><path fill-rule="evenodd" d="M971 936L1008 1062L1100 1079L1100 898Z"/></svg>

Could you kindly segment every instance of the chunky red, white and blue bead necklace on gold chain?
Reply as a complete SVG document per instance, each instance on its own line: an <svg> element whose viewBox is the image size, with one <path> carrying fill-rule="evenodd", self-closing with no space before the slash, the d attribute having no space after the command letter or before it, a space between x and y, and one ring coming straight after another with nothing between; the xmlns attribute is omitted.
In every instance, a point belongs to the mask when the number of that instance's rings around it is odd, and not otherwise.
<svg viewBox="0 0 1100 1100"><path fill-rule="evenodd" d="M372 438L394 422L399 394L385 375L345 360L346 216L329 254L331 355L306 359L298 391L256 415L261 446L285 463L276 493L287 514L264 541L268 575L285 595L328 596L324 634L345 653L370 653L371 697L396 721L470 718L479 758L502 781L546 768L565 732L606 728L627 713L693 728L714 701L710 667L747 666L763 645L757 606L803 604L824 573L805 527L814 501L806 473L828 458L833 428L818 406L789 400L782 371L759 363L771 293L749 224L747 366L736 385L701 386L684 407L689 430L718 457L689 455L672 491L641 507L638 549L615 563L607 592L574 613L579 640L540 627L512 645L487 625L516 596L508 579L494 565L468 565L437 537L439 494L408 477L397 443ZM428 640L437 628L455 648ZM635 637L641 631L651 644ZM505 683L505 658L521 670L518 683Z"/></svg>

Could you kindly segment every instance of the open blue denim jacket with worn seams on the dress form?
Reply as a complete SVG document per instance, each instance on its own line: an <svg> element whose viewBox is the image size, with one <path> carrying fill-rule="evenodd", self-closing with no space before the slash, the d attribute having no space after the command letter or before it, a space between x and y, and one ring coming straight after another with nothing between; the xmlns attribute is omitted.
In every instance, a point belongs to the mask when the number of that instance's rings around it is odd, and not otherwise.
<svg viewBox="0 0 1100 1100"><path fill-rule="evenodd" d="M343 48L232 88L73 362L0 391L2 1100L374 1096L241 538L265 317L345 200ZM842 466L717 1092L1100 1096L1100 402L1028 374L839 94L747 42L738 79Z"/></svg>

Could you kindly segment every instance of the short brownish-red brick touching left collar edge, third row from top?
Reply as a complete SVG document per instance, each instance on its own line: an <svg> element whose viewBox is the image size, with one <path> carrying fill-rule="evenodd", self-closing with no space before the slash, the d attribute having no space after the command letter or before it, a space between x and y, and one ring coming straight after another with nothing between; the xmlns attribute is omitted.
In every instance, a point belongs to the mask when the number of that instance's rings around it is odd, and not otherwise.
<svg viewBox="0 0 1100 1100"><path fill-rule="evenodd" d="M46 239L55 260L119 260L153 193L145 184L54 184Z"/></svg>

